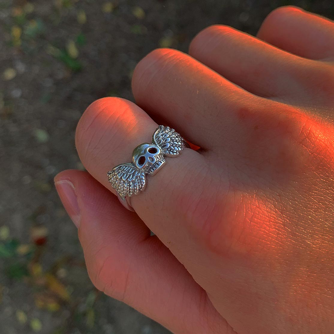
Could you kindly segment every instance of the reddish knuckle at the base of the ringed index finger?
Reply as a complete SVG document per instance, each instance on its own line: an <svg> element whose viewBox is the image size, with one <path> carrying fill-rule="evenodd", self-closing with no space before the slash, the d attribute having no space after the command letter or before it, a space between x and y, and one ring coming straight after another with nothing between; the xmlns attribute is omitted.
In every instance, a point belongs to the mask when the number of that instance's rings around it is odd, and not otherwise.
<svg viewBox="0 0 334 334"><path fill-rule="evenodd" d="M207 251L225 259L264 256L280 246L282 218L263 195L240 190L234 182L212 199L193 237Z"/></svg>

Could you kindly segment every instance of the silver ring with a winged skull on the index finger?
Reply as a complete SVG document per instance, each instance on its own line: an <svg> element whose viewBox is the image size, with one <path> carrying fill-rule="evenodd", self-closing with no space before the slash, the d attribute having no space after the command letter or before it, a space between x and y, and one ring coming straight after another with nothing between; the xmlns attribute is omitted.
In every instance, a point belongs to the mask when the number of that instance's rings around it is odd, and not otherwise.
<svg viewBox="0 0 334 334"><path fill-rule="evenodd" d="M133 150L131 163L117 165L107 173L121 203L134 211L130 197L145 189L147 175L156 174L165 165L165 156L176 157L184 147L189 145L179 133L159 125L152 136L152 143L140 144Z"/></svg>

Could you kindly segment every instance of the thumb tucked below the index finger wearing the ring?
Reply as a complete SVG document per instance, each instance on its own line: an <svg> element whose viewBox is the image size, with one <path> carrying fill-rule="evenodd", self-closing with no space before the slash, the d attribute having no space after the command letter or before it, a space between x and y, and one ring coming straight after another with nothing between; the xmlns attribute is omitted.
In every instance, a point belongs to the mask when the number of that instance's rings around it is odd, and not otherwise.
<svg viewBox="0 0 334 334"><path fill-rule="evenodd" d="M67 205L79 207L79 239L95 286L179 333L232 333L192 279L139 217L86 172L58 174ZM65 186L65 188L64 188ZM72 205L69 212L72 212Z"/></svg>

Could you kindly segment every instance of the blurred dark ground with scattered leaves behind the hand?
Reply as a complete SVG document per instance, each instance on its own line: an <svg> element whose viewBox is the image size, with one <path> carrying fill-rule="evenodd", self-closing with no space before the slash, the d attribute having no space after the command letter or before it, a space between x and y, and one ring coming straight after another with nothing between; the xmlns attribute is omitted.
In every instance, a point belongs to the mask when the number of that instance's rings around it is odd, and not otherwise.
<svg viewBox="0 0 334 334"><path fill-rule="evenodd" d="M333 18L332 1L0 0L0 333L167 333L90 283L77 231L53 186L83 169L74 131L104 96L133 101L152 49L187 51L221 23L255 34L274 8Z"/></svg>

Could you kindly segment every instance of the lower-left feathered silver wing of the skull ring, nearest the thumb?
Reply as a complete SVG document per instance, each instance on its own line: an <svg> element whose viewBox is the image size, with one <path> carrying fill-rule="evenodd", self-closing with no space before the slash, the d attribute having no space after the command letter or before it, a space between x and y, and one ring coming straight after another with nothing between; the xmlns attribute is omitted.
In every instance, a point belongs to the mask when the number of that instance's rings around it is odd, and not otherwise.
<svg viewBox="0 0 334 334"><path fill-rule="evenodd" d="M107 175L111 186L123 197L136 195L146 184L145 173L131 163L118 165Z"/></svg>

